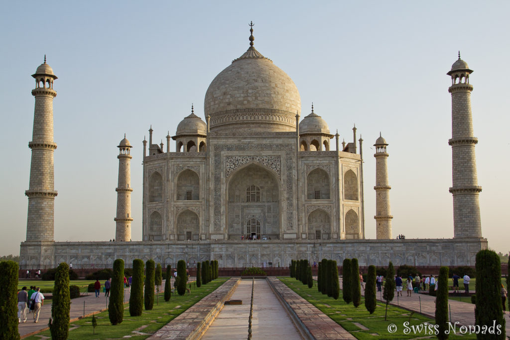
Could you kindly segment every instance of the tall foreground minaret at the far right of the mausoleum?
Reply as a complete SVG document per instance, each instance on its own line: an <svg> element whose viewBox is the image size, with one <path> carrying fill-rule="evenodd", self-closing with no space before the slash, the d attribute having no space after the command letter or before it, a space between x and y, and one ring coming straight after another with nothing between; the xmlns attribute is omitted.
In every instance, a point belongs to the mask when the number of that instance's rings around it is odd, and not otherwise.
<svg viewBox="0 0 510 340"><path fill-rule="evenodd" d="M453 237L481 238L480 205L476 174L475 145L478 139L473 137L471 116L471 91L469 74L473 71L461 59L453 63L447 73L451 76L451 145L453 186Z"/></svg>

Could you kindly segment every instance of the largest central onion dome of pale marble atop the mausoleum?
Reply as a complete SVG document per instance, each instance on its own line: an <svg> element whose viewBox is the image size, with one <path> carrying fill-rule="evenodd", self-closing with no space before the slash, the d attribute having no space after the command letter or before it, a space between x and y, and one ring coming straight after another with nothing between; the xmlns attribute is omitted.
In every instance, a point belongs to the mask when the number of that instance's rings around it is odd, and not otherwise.
<svg viewBox="0 0 510 340"><path fill-rule="evenodd" d="M211 132L295 132L301 98L287 73L250 46L211 82L204 111Z"/></svg>

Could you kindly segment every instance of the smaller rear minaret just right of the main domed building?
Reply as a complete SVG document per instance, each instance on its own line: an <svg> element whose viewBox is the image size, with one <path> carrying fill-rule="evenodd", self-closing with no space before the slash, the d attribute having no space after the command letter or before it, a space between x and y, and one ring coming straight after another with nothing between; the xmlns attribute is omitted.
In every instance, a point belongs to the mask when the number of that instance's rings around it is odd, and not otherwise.
<svg viewBox="0 0 510 340"><path fill-rule="evenodd" d="M388 143L379 133L375 141L375 233L378 240L393 239L391 232L390 189L388 185Z"/></svg>

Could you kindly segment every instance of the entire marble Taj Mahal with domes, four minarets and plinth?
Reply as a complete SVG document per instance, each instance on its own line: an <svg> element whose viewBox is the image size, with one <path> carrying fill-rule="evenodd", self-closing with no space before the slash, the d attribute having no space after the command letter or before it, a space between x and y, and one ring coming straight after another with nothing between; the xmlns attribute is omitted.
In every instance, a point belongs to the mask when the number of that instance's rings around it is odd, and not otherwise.
<svg viewBox="0 0 510 340"><path fill-rule="evenodd" d="M389 261L397 266L473 266L476 253L486 249L488 242L482 237L478 204L481 187L470 101L472 72L460 54L447 72L452 81L448 88L452 239L394 238L389 143L382 134L373 136L375 153L368 158L355 126L352 139L340 141L338 132L334 134L320 112L314 112L313 104L302 109L291 77L254 48L251 25L248 49L209 85L202 118L191 106L175 134L163 137L166 145L155 142L164 136L156 134L166 133L165 128L150 126L148 141L144 139L137 152L143 154L143 188L131 187L131 160L138 156L125 135L120 141L117 211L112 222L115 242L55 242L57 76L44 58L32 75L32 160L25 192L27 238L21 242L20 266L67 262L110 267L116 258L126 263L152 258L161 264L217 259L220 267L284 267L296 258L342 263L351 257L358 258L360 266L386 266ZM363 173L363 162L374 162L372 156L376 165L373 220L372 212L365 217L363 185L364 175L374 175ZM143 192L142 216L131 214L133 190ZM134 219L142 221L142 241L131 241ZM366 228L375 228L376 239L365 238Z"/></svg>

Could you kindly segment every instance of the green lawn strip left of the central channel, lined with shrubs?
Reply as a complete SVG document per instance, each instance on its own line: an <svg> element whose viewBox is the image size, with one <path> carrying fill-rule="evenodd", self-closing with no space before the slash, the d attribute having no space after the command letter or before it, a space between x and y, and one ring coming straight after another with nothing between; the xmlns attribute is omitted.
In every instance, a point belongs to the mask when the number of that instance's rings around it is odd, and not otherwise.
<svg viewBox="0 0 510 340"><path fill-rule="evenodd" d="M112 326L108 319L108 311L96 314L97 327L95 334L92 334L92 317L71 323L69 338L72 340L86 339L112 339L128 336L130 339L140 340L149 337L152 333L166 325L175 317L179 316L186 309L200 301L203 297L209 295L222 285L228 278L220 277L216 280L196 288L191 285L190 295L173 295L170 301L165 302L163 293L159 294L159 305L154 299L154 308L144 310L140 317L130 317L129 303L124 305L124 320L121 324ZM38 333L51 337L49 330ZM27 337L29 340L40 340L40 337L33 335Z"/></svg>

